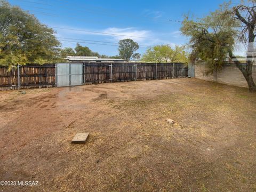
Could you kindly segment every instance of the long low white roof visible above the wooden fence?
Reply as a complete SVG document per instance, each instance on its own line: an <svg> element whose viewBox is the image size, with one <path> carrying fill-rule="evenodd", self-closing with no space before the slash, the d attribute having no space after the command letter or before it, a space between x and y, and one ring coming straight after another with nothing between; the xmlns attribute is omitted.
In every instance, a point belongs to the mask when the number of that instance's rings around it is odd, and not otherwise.
<svg viewBox="0 0 256 192"><path fill-rule="evenodd" d="M126 60L124 59L111 59L111 58L98 58L98 57L85 57L85 56L67 56L66 58L69 62L108 62L108 61L113 61L113 62L125 62Z"/></svg>

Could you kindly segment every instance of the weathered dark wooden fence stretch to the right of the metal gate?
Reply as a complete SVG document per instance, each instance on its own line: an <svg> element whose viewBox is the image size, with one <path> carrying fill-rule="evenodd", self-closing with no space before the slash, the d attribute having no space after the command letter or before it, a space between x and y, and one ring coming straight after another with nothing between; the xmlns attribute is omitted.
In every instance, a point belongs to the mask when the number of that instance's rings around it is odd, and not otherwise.
<svg viewBox="0 0 256 192"><path fill-rule="evenodd" d="M184 63L84 63L84 83L106 83L188 76Z"/></svg>

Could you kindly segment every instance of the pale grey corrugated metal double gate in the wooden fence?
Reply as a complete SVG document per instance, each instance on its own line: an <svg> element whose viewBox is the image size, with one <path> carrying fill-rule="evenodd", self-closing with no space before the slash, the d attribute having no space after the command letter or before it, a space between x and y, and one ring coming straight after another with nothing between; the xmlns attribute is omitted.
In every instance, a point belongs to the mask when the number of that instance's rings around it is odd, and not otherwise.
<svg viewBox="0 0 256 192"><path fill-rule="evenodd" d="M83 85L83 63L57 63L56 85Z"/></svg>

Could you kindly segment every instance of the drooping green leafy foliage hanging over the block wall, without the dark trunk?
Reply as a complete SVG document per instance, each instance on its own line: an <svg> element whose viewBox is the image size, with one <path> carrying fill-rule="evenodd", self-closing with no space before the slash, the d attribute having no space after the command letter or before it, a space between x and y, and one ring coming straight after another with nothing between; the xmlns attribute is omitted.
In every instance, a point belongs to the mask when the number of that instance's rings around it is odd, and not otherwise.
<svg viewBox="0 0 256 192"><path fill-rule="evenodd" d="M186 16L182 22L182 34L190 37L190 60L201 59L209 63L209 73L221 70L227 54L233 51L236 31L231 25L235 23L230 17L225 17L226 9L222 6L197 21Z"/></svg>

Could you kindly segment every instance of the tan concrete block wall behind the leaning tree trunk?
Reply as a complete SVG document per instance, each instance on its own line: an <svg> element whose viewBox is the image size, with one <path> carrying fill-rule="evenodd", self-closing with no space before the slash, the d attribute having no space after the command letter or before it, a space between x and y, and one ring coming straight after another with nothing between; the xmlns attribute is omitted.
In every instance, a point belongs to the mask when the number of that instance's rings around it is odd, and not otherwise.
<svg viewBox="0 0 256 192"><path fill-rule="evenodd" d="M227 85L248 87L242 72L235 66L235 64L225 65L221 71L209 75L206 75L206 71L206 63L197 63L195 65L195 78ZM256 66L253 66L253 79L256 83Z"/></svg>

